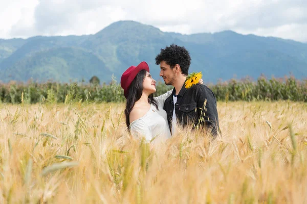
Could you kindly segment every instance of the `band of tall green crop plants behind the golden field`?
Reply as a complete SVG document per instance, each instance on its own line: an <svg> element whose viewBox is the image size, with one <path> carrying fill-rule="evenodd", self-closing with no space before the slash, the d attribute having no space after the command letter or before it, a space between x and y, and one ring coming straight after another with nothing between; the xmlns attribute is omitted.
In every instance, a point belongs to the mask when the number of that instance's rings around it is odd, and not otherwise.
<svg viewBox="0 0 307 204"><path fill-rule="evenodd" d="M307 80L299 81L293 77L267 80L260 77L256 82L250 79L218 82L208 85L217 100L223 101L259 101L291 100L307 102ZM155 95L170 90L170 86L158 83ZM34 82L0 84L0 103L36 104L36 103L85 103L123 102L123 90L115 79L109 84L90 85L83 83L59 84Z"/></svg>

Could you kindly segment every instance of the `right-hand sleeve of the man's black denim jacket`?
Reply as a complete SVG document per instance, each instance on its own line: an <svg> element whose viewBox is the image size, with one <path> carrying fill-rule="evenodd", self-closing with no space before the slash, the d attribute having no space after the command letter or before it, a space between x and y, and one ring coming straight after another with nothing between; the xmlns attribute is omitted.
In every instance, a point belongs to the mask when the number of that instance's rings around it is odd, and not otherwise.
<svg viewBox="0 0 307 204"><path fill-rule="evenodd" d="M197 108L199 117L203 117L201 124L211 130L213 137L216 137L220 127L218 125L218 114L216 109L216 98L211 89L202 87L196 94ZM197 122L197 121L196 121Z"/></svg>

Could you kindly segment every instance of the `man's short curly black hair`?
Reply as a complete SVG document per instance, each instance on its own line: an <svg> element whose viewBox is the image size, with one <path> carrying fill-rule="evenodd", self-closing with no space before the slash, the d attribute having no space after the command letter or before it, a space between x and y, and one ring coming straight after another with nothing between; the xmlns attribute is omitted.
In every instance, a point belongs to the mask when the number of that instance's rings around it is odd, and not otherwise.
<svg viewBox="0 0 307 204"><path fill-rule="evenodd" d="M166 46L165 49L161 49L161 53L156 57L156 64L160 64L165 61L171 69L176 64L179 64L181 73L188 75L191 64L191 57L188 50L184 46L178 46L171 44Z"/></svg>

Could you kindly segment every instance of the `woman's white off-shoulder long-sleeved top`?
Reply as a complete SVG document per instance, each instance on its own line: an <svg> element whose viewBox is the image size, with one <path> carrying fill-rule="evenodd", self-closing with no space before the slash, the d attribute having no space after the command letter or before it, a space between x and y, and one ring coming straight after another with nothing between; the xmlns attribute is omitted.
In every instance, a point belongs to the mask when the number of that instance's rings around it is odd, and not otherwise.
<svg viewBox="0 0 307 204"><path fill-rule="evenodd" d="M151 104L149 111L143 117L130 123L130 132L133 136L145 137L147 142L163 141L171 137L167 115L163 110L164 101L171 93L172 90L169 90L155 97L159 110Z"/></svg>

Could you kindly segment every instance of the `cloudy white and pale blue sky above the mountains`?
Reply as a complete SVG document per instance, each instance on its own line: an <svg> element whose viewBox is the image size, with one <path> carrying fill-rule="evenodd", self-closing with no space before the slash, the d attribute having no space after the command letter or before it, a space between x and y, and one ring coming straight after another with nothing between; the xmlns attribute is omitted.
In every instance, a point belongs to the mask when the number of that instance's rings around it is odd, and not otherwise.
<svg viewBox="0 0 307 204"><path fill-rule="evenodd" d="M0 0L0 38L95 34L135 20L182 34L232 30L307 42L307 0Z"/></svg>

